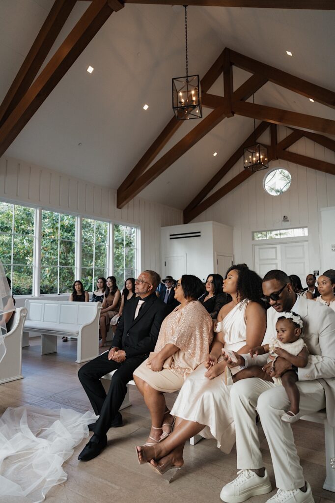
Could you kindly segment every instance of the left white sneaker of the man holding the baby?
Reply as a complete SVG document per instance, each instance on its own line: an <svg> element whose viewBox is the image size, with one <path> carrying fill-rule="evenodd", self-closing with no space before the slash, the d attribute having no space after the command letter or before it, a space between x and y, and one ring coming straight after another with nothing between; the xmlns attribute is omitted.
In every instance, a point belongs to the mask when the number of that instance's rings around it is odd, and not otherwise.
<svg viewBox="0 0 335 503"><path fill-rule="evenodd" d="M220 498L226 503L241 503L246 499L271 492L268 472L259 477L252 470L240 470L237 477L222 487Z"/></svg>

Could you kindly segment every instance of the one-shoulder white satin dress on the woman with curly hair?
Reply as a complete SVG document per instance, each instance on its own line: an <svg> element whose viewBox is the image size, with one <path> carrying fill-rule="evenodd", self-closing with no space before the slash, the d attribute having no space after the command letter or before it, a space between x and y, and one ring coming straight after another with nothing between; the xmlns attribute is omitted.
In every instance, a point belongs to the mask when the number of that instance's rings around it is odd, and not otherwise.
<svg viewBox="0 0 335 503"><path fill-rule="evenodd" d="M224 348L238 351L245 346L245 309L248 300L239 302L221 321ZM205 438L215 438L217 446L229 453L235 443L235 427L231 412L229 386L224 382L224 373L208 379L204 364L186 379L171 413L206 427L201 431Z"/></svg>

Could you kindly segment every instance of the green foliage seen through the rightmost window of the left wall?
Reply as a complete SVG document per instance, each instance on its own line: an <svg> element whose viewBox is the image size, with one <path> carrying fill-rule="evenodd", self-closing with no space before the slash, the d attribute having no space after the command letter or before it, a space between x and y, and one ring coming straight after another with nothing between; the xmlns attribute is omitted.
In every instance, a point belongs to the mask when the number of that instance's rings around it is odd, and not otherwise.
<svg viewBox="0 0 335 503"><path fill-rule="evenodd" d="M136 278L136 228L114 225L114 276L119 288L126 278Z"/></svg>

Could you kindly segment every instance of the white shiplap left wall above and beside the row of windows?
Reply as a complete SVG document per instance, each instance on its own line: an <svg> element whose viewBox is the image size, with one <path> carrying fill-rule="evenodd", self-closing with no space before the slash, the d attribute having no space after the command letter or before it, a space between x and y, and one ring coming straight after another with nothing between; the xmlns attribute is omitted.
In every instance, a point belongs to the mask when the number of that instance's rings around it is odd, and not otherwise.
<svg viewBox="0 0 335 503"><path fill-rule="evenodd" d="M141 269L157 272L160 228L183 223L181 210L138 197L119 210L113 189L6 156L0 158L0 200L139 226Z"/></svg>

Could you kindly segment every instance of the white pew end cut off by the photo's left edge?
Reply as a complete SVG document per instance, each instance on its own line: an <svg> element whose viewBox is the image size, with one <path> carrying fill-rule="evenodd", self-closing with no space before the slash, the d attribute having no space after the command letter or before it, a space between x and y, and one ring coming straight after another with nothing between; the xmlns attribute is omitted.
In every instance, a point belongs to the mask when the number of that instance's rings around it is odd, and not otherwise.
<svg viewBox="0 0 335 503"><path fill-rule="evenodd" d="M11 320L11 329L6 334L6 354L0 362L0 384L22 379L22 332L27 309L19 307Z"/></svg>

